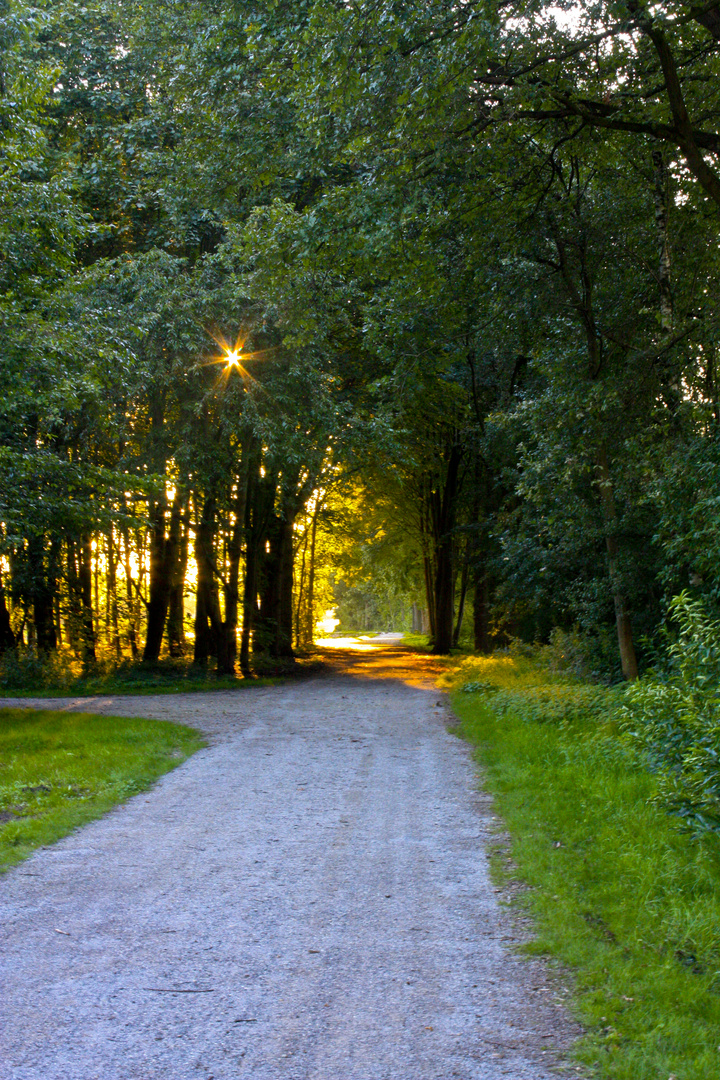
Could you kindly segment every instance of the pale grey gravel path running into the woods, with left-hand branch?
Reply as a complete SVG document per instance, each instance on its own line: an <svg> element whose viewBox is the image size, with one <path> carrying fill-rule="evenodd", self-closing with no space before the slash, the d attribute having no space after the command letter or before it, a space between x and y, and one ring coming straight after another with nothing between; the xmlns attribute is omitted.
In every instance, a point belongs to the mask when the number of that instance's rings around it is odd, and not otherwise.
<svg viewBox="0 0 720 1080"><path fill-rule="evenodd" d="M279 687L2 701L209 745L0 879L1 1080L549 1080L575 1028L487 868L430 658Z"/></svg>

